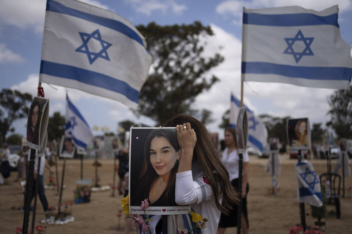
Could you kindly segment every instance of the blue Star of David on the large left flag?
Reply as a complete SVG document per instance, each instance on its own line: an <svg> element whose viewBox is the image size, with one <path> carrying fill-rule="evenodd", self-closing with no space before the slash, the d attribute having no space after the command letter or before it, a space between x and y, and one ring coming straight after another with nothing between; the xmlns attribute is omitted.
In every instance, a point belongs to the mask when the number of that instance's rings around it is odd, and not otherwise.
<svg viewBox="0 0 352 234"><path fill-rule="evenodd" d="M104 41L101 39L101 35L100 35L100 32L99 32L99 29L96 29L93 33L91 34L88 34L88 33L82 33L82 32L79 32L80 33L80 36L81 36L81 39L82 39L82 42L83 44L78 47L76 49L77 52L81 52L81 53L86 53L87 56L88 56L88 60L89 60L89 63L92 64L96 59L98 59L99 57L100 58L103 58L103 59L106 59L108 61L110 61L109 59L109 55L107 53L107 49L112 46L112 44L110 44L109 42L107 41ZM88 48L88 42L89 40L92 39L92 40L97 40L100 42L101 44L101 50L98 52L98 53L95 53L95 52L92 52L92 51L89 51L89 48ZM92 49L92 48L91 48Z"/></svg>

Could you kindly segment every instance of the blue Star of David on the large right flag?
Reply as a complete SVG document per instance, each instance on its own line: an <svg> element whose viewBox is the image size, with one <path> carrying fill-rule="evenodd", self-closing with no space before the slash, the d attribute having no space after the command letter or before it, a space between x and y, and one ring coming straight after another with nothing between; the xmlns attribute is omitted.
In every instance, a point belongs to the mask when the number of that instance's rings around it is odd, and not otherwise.
<svg viewBox="0 0 352 234"><path fill-rule="evenodd" d="M285 41L287 43L287 48L283 53L292 54L296 60L296 63L298 63L303 57L303 55L314 55L312 49L310 49L310 45L312 44L313 39L314 38L305 38L301 30L299 30L294 38L285 38ZM306 48L304 48L302 52L294 51L293 45L295 44L296 41L303 41L304 45L306 46Z"/></svg>

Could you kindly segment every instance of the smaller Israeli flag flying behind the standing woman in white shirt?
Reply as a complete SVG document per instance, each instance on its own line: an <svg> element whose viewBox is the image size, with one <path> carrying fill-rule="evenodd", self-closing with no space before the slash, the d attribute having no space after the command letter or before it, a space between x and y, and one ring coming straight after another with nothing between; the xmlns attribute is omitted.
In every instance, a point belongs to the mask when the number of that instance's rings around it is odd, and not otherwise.
<svg viewBox="0 0 352 234"><path fill-rule="evenodd" d="M247 145L252 146L260 154L263 147L268 142L268 131L260 119L246 106L248 116L248 142ZM241 107L241 102L231 94L230 108L230 127L236 128L237 117Z"/></svg>

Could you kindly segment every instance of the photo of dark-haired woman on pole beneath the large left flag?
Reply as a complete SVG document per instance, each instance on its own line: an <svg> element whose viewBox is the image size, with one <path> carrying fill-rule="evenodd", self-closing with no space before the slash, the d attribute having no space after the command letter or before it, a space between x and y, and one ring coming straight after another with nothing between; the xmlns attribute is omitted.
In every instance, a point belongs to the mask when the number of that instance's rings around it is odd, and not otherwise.
<svg viewBox="0 0 352 234"><path fill-rule="evenodd" d="M38 101L32 102L27 121L27 141L35 145L39 144L39 107Z"/></svg>

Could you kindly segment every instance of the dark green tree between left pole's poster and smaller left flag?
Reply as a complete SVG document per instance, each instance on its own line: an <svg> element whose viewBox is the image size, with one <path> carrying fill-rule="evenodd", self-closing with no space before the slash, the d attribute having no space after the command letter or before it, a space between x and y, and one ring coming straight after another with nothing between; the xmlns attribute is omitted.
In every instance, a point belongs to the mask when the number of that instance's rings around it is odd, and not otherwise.
<svg viewBox="0 0 352 234"><path fill-rule="evenodd" d="M48 140L60 140L65 133L65 116L60 112L54 112L52 117L48 120Z"/></svg>

